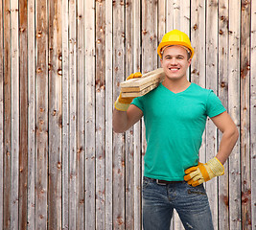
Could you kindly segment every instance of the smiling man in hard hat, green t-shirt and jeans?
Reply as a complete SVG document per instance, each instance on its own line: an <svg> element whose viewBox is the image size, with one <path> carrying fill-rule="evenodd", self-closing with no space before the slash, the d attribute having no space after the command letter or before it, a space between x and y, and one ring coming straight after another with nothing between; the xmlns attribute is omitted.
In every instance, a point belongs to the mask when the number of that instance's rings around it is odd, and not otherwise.
<svg viewBox="0 0 256 230"><path fill-rule="evenodd" d="M174 209L185 229L211 230L213 222L202 183L224 173L223 164L238 130L212 90L187 81L194 49L187 34L165 34L157 53L165 79L143 97L120 94L113 111L113 129L124 132L144 116L147 150L143 181L145 230L170 229ZM130 78L139 78L140 73ZM133 101L132 101L133 100ZM221 130L216 157L198 162L207 116Z"/></svg>

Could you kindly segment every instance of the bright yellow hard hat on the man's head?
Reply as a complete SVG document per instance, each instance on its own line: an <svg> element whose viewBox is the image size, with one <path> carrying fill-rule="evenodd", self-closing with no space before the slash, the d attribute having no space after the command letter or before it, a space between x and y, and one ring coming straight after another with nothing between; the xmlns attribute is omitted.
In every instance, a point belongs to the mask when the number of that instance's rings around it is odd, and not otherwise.
<svg viewBox="0 0 256 230"><path fill-rule="evenodd" d="M190 58L193 58L194 49L191 46L188 35L178 30L173 30L171 32L168 32L167 34L164 34L157 48L157 54L159 55L159 57L162 58L162 49L164 47L172 45L180 45L188 48L190 51Z"/></svg>

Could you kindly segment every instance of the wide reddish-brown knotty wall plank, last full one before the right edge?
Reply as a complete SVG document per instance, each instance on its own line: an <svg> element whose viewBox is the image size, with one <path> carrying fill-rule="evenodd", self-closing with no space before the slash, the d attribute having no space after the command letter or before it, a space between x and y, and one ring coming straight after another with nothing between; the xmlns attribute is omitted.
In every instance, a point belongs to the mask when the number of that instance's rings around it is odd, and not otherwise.
<svg viewBox="0 0 256 230"><path fill-rule="evenodd" d="M241 173L242 173L242 229L251 229L250 177L250 1L242 0L241 14Z"/></svg>

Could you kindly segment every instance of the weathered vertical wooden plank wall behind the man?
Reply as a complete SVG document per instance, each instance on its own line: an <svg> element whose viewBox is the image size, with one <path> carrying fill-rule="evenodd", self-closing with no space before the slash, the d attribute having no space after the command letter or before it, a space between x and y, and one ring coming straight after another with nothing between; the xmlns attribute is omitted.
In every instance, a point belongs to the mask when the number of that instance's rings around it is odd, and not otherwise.
<svg viewBox="0 0 256 230"><path fill-rule="evenodd" d="M112 132L121 81L159 66L166 32L190 35L191 81L240 130L206 183L216 229L256 229L256 1L1 0L0 229L141 229L143 122ZM221 134L207 123L206 161ZM182 229L176 214L172 229Z"/></svg>

